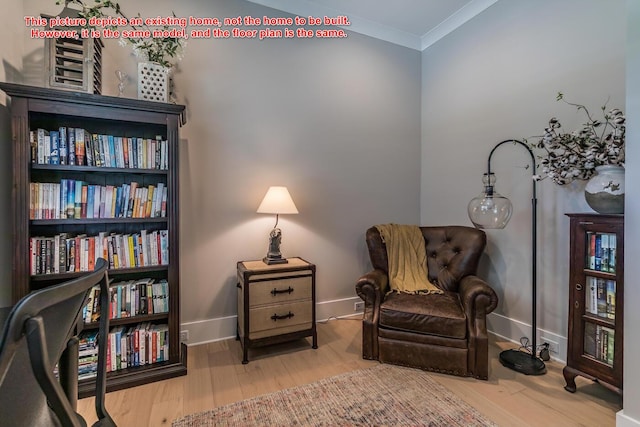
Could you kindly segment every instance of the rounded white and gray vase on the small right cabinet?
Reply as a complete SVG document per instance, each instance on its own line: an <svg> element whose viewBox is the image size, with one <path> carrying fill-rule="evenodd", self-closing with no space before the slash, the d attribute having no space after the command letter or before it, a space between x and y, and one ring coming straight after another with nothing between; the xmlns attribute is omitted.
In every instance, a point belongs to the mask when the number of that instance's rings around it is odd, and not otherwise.
<svg viewBox="0 0 640 427"><path fill-rule="evenodd" d="M598 213L624 213L624 168L597 166L596 174L587 181L584 196L591 209Z"/></svg>

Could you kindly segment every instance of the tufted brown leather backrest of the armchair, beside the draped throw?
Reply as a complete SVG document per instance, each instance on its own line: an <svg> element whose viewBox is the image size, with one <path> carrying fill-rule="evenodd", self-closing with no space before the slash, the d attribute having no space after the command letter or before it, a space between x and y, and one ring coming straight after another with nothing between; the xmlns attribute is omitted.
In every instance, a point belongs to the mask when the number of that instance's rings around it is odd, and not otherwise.
<svg viewBox="0 0 640 427"><path fill-rule="evenodd" d="M429 280L445 291L458 291L460 280L476 274L480 256L487 244L482 230L462 225L420 227L427 251ZM387 248L374 226L366 233L373 268L389 273Z"/></svg>

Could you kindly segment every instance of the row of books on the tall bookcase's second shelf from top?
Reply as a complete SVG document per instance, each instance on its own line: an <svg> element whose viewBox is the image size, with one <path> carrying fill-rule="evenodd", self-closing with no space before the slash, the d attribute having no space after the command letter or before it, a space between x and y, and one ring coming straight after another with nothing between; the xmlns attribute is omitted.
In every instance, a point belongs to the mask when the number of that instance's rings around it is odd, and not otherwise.
<svg viewBox="0 0 640 427"><path fill-rule="evenodd" d="M164 218L167 186L92 185L62 179L60 183L29 184L29 219Z"/></svg>

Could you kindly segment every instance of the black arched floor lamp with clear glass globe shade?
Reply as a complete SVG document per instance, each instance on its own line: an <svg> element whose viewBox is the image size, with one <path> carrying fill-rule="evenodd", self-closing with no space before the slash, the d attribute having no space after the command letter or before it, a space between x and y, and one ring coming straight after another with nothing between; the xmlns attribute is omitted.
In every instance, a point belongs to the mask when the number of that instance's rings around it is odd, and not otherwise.
<svg viewBox="0 0 640 427"><path fill-rule="evenodd" d="M467 206L469 219L473 222L477 228L504 228L509 219L511 219L511 213L513 212L513 206L509 199L498 194L495 189L495 175L491 172L491 156L496 149L503 144L512 143L513 145L520 145L524 147L531 155L531 161L533 162L533 173L536 171L536 159L533 151L527 144L515 139L507 139L498 143L491 153L489 153L489 159L487 160L487 172L482 178L484 183L484 191L478 197L472 199ZM537 197L536 197L536 184L537 180L533 179L532 189L533 196L531 198L531 352L521 350L505 350L500 353L500 363L507 368L521 372L527 375L541 375L544 374L547 369L544 362L536 356L536 236L537 236ZM526 350L526 345L525 350Z"/></svg>

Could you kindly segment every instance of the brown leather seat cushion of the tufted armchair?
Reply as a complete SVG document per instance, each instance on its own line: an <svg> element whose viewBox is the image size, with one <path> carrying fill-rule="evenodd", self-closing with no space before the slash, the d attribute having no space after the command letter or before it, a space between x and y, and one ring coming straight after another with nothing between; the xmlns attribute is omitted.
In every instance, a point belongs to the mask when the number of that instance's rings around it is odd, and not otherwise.
<svg viewBox="0 0 640 427"><path fill-rule="evenodd" d="M467 321L457 293L390 293L380 305L381 328L466 339Z"/></svg>

